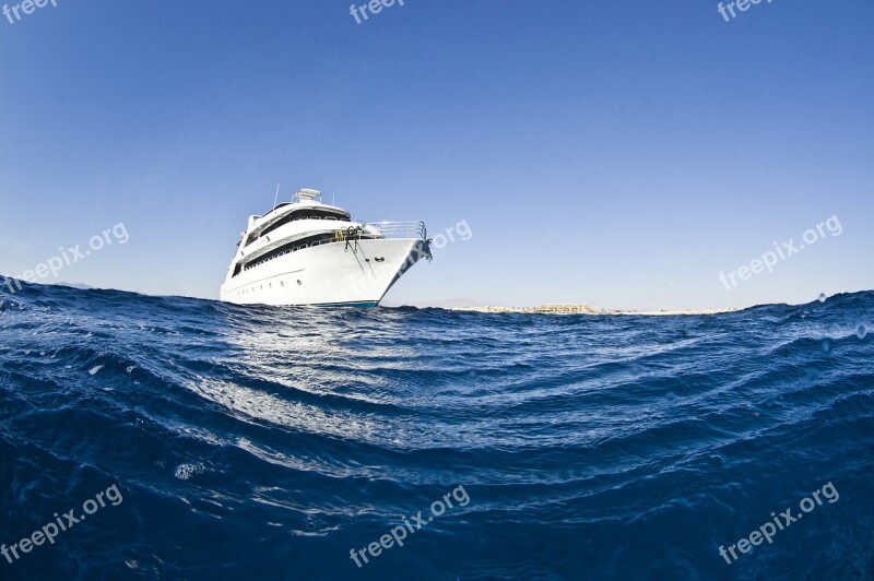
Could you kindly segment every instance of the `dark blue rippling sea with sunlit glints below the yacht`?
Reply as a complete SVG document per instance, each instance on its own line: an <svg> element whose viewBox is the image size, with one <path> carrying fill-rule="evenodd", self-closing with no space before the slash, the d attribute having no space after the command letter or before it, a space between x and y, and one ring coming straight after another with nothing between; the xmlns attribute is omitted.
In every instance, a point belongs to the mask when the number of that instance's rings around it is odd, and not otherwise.
<svg viewBox="0 0 874 581"><path fill-rule="evenodd" d="M872 311L4 288L0 578L872 579Z"/></svg>

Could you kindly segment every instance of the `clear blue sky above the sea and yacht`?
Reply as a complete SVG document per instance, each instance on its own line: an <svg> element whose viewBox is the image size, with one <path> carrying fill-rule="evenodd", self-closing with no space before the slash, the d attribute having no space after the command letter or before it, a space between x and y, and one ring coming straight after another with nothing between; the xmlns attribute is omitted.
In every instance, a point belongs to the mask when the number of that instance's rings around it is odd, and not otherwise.
<svg viewBox="0 0 874 581"><path fill-rule="evenodd" d="M17 4L21 0L7 0ZM249 214L466 221L392 303L727 307L874 287L874 3L57 0L0 16L0 273L217 297ZM20 13L21 14L21 13ZM14 20L14 16L13 16ZM837 215L840 236L727 290Z"/></svg>

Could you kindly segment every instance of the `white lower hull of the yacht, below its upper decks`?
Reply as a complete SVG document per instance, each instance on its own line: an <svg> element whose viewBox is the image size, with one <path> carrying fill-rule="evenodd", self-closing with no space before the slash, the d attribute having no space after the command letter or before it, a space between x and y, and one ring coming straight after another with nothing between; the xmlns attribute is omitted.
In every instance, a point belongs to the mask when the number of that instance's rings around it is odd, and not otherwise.
<svg viewBox="0 0 874 581"><path fill-rule="evenodd" d="M335 241L276 257L222 285L240 305L376 307L394 282L428 257L421 239Z"/></svg>

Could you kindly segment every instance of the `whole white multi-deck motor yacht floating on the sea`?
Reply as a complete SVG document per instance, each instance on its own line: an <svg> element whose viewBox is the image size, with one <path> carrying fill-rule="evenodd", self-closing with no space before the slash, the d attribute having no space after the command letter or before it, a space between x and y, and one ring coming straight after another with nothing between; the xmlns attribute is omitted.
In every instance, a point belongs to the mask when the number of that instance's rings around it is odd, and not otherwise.
<svg viewBox="0 0 874 581"><path fill-rule="evenodd" d="M249 216L221 287L237 304L376 307L420 259L432 259L423 222L355 222L299 190Z"/></svg>

